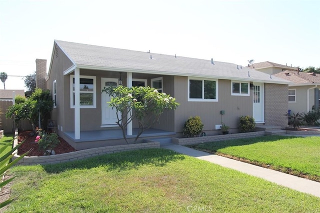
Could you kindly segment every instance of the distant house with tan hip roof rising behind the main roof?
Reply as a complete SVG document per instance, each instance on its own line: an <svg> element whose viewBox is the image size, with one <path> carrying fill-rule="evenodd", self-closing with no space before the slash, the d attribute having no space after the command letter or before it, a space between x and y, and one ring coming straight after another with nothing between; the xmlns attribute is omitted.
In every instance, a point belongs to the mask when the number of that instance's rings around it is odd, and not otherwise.
<svg viewBox="0 0 320 213"><path fill-rule="evenodd" d="M284 70L296 70L297 68L297 67L270 62L270 61L263 61L259 63L248 64L248 67L267 73L267 74L275 74Z"/></svg>

